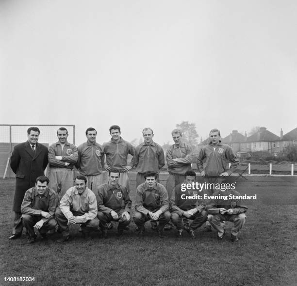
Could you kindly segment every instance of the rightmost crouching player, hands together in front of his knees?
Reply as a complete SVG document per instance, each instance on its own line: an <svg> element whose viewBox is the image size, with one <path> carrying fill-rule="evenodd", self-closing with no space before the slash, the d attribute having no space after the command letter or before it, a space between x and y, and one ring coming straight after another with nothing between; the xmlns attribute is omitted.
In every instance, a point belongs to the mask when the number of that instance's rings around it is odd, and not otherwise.
<svg viewBox="0 0 297 286"><path fill-rule="evenodd" d="M246 222L245 212L247 207L242 205L241 200L236 196L240 196L238 191L226 190L216 191L213 193L214 199L207 204L207 220L217 231L217 238L224 239L225 230L220 222L234 222L231 229L231 241L238 240L238 232Z"/></svg>

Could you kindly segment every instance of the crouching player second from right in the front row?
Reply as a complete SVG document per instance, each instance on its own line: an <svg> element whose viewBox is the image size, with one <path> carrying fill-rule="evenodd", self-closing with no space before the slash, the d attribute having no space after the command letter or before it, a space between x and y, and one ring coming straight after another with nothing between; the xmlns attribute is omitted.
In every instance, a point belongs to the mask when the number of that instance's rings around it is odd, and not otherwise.
<svg viewBox="0 0 297 286"><path fill-rule="evenodd" d="M182 190L181 185L191 184L196 181L196 173L187 171L184 174L185 180L173 190L171 196L171 221L178 230L178 237L182 237L183 218L193 220L188 228L191 238L195 238L195 229L200 227L207 220L205 206L199 204L198 191L191 188ZM184 185L183 185L184 186Z"/></svg>

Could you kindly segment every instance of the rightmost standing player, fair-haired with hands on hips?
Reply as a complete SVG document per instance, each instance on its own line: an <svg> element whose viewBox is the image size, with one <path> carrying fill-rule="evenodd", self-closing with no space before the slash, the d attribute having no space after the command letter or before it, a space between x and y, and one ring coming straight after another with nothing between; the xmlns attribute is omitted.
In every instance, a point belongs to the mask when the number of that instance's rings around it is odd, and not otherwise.
<svg viewBox="0 0 297 286"><path fill-rule="evenodd" d="M205 176L208 183L221 183L221 178L218 176L229 176L239 165L239 160L234 154L232 148L221 143L221 132L218 129L212 129L209 132L211 142L204 145L199 152L197 159L197 167L200 175ZM203 167L203 159L206 159ZM226 168L227 161L231 162L230 169ZM208 190L212 194L214 190ZM211 231L211 225L206 222L205 231Z"/></svg>

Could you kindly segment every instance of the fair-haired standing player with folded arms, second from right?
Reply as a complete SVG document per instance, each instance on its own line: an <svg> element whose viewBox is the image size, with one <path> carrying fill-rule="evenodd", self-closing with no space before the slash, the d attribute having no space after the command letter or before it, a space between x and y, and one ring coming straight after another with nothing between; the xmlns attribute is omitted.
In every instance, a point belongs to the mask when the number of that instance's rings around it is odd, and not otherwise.
<svg viewBox="0 0 297 286"><path fill-rule="evenodd" d="M166 189L169 198L171 198L173 189L184 180L184 174L192 171L193 148L182 142L182 133L180 129L174 129L171 132L174 144L170 146L166 153L169 176L167 178ZM169 230L170 225L165 226Z"/></svg>

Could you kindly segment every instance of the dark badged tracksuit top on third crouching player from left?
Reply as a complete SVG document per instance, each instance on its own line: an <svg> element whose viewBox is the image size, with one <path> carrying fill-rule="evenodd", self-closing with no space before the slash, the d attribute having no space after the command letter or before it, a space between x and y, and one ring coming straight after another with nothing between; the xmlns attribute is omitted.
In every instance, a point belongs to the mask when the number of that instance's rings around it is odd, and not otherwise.
<svg viewBox="0 0 297 286"><path fill-rule="evenodd" d="M113 190L105 183L99 187L97 194L98 211L109 214L112 210L119 212L124 209L130 213L132 201L126 187L117 184Z"/></svg>

